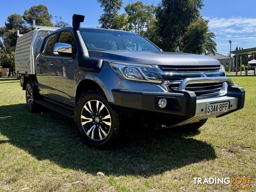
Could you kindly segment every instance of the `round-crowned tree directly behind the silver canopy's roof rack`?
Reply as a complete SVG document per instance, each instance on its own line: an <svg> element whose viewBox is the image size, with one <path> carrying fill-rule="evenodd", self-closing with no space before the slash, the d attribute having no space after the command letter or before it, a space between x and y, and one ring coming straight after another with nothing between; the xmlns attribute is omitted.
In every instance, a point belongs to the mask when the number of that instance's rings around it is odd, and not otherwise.
<svg viewBox="0 0 256 192"><path fill-rule="evenodd" d="M51 18L52 15L48 12L48 8L42 4L30 7L23 14L23 19L31 28L33 26L33 20L36 20L37 25L52 27Z"/></svg>

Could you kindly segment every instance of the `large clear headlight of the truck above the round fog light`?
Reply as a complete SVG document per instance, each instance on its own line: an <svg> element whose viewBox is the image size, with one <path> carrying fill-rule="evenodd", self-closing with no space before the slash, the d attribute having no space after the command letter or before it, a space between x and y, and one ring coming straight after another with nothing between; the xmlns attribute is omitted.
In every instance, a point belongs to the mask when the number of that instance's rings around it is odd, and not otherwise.
<svg viewBox="0 0 256 192"><path fill-rule="evenodd" d="M112 69L123 79L162 83L162 76L151 65L110 63Z"/></svg>

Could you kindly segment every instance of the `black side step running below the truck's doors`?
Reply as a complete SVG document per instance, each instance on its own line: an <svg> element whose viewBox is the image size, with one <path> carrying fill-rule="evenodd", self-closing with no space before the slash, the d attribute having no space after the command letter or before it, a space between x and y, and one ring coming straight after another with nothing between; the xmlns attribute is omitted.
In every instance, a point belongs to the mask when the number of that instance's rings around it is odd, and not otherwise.
<svg viewBox="0 0 256 192"><path fill-rule="evenodd" d="M68 104L62 104L60 102L41 97L38 100L35 100L36 103L53 110L55 112L61 113L68 118L74 118L74 106Z"/></svg>

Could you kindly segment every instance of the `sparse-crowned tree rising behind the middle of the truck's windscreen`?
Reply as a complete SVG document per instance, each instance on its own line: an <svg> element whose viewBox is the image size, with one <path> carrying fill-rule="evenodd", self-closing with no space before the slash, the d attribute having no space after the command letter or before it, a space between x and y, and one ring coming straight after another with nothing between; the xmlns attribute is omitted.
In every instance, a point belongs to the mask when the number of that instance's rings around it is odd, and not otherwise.
<svg viewBox="0 0 256 192"><path fill-rule="evenodd" d="M126 5L124 10L128 15L129 30L145 35L147 27L154 20L154 6L145 5L141 1Z"/></svg>

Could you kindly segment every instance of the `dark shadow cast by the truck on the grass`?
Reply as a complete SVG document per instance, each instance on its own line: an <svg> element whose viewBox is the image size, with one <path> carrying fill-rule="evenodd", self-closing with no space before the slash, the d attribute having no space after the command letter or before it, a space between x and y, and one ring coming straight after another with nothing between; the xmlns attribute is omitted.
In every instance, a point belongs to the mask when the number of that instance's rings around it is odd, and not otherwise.
<svg viewBox="0 0 256 192"><path fill-rule="evenodd" d="M73 120L43 110L28 112L25 104L0 106L0 133L10 143L38 160L50 160L63 168L91 174L150 176L216 158L214 148L192 138L200 132L148 130L129 127L112 150L84 145Z"/></svg>

